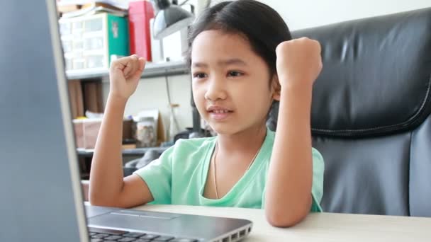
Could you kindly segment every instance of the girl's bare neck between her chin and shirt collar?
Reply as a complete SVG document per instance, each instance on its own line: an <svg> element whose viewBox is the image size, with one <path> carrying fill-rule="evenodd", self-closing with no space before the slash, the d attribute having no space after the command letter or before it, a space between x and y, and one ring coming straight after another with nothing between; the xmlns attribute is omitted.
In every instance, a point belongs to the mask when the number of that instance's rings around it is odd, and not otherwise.
<svg viewBox="0 0 431 242"><path fill-rule="evenodd" d="M254 153L264 142L267 127L251 127L236 134L218 134L218 151L223 154Z"/></svg>

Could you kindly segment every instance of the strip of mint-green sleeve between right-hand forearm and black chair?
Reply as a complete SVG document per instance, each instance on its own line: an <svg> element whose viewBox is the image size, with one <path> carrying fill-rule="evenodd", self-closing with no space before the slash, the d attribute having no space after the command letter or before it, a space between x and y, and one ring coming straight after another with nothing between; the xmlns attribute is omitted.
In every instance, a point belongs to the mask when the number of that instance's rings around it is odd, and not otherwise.
<svg viewBox="0 0 431 242"><path fill-rule="evenodd" d="M313 148L313 185L311 187L311 195L313 202L310 212L322 212L320 201L323 197L323 173L325 171L325 163L323 156L317 149Z"/></svg>

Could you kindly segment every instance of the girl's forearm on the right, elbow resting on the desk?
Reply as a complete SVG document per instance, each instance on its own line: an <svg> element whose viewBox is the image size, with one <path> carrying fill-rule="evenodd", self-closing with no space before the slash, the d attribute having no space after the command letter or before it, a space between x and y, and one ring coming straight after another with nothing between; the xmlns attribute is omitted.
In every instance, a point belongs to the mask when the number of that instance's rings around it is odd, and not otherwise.
<svg viewBox="0 0 431 242"><path fill-rule="evenodd" d="M265 194L267 218L275 226L296 224L310 210L313 182L311 89L311 86L281 88Z"/></svg>

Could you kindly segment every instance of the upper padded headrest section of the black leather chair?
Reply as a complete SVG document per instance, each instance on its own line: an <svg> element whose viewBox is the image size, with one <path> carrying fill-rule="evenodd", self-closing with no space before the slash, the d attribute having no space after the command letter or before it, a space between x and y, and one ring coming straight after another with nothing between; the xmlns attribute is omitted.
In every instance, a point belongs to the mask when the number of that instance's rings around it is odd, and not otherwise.
<svg viewBox="0 0 431 242"><path fill-rule="evenodd" d="M430 115L431 8L294 31L322 45L313 134L377 136Z"/></svg>

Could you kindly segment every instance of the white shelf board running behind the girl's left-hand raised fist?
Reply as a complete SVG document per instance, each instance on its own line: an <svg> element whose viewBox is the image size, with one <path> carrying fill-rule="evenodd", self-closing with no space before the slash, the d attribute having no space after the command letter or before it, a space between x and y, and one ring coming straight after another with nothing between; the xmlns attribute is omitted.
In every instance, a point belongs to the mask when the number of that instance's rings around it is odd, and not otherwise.
<svg viewBox="0 0 431 242"><path fill-rule="evenodd" d="M161 62L161 63L147 63L142 72L142 78L150 78L157 76L174 76L189 74L190 70L184 61ZM99 70L80 70L80 71L66 71L68 80L85 80L85 79L101 79L109 76L108 69Z"/></svg>

